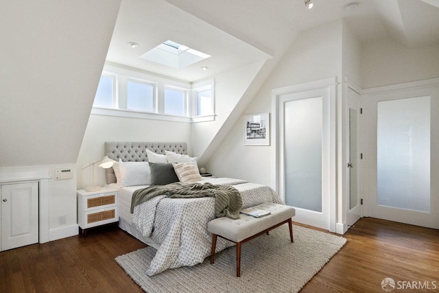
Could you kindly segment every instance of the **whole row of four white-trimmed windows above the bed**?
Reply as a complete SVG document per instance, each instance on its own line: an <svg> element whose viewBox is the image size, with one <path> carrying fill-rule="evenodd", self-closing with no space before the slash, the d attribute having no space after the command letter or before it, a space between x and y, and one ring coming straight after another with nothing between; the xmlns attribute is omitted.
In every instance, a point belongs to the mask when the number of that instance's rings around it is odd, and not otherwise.
<svg viewBox="0 0 439 293"><path fill-rule="evenodd" d="M214 84L213 79L191 84L105 65L91 114L187 123L213 121Z"/></svg>

